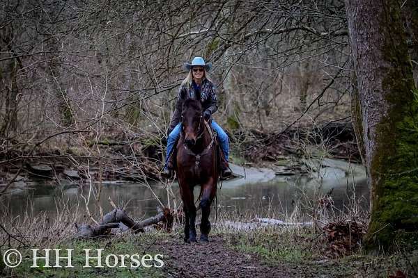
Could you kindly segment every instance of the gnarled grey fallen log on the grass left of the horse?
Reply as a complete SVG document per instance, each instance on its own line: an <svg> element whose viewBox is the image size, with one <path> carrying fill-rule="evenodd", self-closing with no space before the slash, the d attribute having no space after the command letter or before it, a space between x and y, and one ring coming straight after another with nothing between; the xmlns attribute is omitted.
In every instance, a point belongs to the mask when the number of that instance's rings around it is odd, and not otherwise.
<svg viewBox="0 0 418 278"><path fill-rule="evenodd" d="M158 222L164 222L167 231L171 231L173 225L173 212L169 208L164 208L157 215L146 218L142 221L135 221L130 218L127 213L119 208L115 208L113 211L106 213L103 216L102 222L98 225L90 224L75 224L77 228L76 238L97 238L99 236L105 236L109 234L109 230L120 227L120 223L123 223L126 227L134 231L134 233L144 232L144 227L157 224Z"/></svg>

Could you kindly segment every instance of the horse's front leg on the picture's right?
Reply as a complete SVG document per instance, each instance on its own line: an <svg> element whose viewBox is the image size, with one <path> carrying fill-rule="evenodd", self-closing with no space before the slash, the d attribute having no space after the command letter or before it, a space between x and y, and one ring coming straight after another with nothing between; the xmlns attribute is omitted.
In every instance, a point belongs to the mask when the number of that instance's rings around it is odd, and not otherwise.
<svg viewBox="0 0 418 278"><path fill-rule="evenodd" d="M202 219L200 224L201 230L201 241L209 241L208 235L210 232L210 204L216 194L216 183L214 184L213 179L211 178L208 183L203 185L203 192L201 195L200 207L202 210ZM216 209L216 208L215 208Z"/></svg>

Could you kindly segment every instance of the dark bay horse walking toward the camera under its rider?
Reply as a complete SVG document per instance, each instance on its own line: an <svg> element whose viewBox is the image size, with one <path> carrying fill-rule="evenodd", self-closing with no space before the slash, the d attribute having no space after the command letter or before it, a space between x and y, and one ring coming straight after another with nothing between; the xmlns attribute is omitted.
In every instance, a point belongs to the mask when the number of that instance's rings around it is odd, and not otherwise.
<svg viewBox="0 0 418 278"><path fill-rule="evenodd" d="M194 186L200 186L201 241L208 241L210 204L217 189L215 135L203 118L201 102L187 99L181 114L183 130L177 144L176 174L185 212L185 241L196 242Z"/></svg>

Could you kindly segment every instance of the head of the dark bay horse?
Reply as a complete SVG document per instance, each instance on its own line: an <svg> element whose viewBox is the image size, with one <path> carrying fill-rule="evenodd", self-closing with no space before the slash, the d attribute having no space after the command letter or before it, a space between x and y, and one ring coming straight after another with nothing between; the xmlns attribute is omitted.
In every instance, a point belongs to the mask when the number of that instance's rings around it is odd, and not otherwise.
<svg viewBox="0 0 418 278"><path fill-rule="evenodd" d="M196 99L186 99L183 103L181 119L185 134L185 144L192 147L196 144L199 133L204 128L201 102Z"/></svg>

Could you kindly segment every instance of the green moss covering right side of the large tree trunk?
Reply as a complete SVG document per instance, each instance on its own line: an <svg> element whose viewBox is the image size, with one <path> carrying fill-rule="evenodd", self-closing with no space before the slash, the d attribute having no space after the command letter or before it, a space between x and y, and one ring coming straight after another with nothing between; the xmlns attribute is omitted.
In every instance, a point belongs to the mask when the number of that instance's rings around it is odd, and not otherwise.
<svg viewBox="0 0 418 278"><path fill-rule="evenodd" d="M405 32L400 24L392 24L400 22L400 11L387 4L385 15L382 32L387 39L380 50L392 65L382 82L389 108L376 126L376 151L370 167L372 215L364 243L368 250L393 250L398 245L417 249L418 93Z"/></svg>

